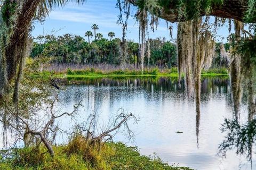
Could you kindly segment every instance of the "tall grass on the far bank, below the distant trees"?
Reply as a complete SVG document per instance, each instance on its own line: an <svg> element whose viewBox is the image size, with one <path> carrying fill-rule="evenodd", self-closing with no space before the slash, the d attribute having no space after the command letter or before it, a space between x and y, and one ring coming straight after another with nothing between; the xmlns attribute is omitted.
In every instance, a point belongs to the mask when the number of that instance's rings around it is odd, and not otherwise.
<svg viewBox="0 0 256 170"><path fill-rule="evenodd" d="M126 65L124 69L121 66L109 65L109 64L99 64L99 65L76 65L76 64L51 64L43 67L42 73L48 75L51 72L55 74L65 75L67 77L107 77L107 76L154 76L154 75L166 75L178 77L177 67L172 67L171 69L163 69L158 67L147 67L141 71L140 68L134 67L134 65ZM220 75L228 74L228 69L212 68L209 70L202 70L202 75ZM183 75L183 74L182 74Z"/></svg>

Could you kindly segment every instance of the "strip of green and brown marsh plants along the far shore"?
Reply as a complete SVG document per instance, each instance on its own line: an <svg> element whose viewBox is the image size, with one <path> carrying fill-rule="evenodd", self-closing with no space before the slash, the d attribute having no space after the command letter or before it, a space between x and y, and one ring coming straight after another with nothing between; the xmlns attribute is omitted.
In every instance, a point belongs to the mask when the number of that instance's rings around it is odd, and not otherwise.
<svg viewBox="0 0 256 170"><path fill-rule="evenodd" d="M161 69L158 67L148 67L142 72L140 69L135 69L132 66L126 66L122 69L119 66L102 66L102 65L85 65L74 67L63 66L62 69L54 69L55 67L46 67L42 72L34 74L38 78L53 78L58 79L76 79L76 78L122 78L122 77L172 77L179 78L177 67L171 69ZM59 66L60 68L60 66ZM184 75L182 74L182 77ZM202 70L202 77L215 77L215 76L229 76L228 69L225 67L212 68L209 70Z"/></svg>

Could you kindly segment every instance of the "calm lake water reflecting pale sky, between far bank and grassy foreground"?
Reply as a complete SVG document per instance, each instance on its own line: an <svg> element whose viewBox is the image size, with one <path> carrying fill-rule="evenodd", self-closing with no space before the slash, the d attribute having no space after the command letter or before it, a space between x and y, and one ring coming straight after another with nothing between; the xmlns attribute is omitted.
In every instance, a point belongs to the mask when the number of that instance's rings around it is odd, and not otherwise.
<svg viewBox="0 0 256 170"><path fill-rule="evenodd" d="M200 115L196 113L195 101L186 98L184 83L181 82L179 88L177 79L70 81L75 85L67 85L59 94L62 109L70 112L74 104L83 100L84 107L78 115L86 117L97 113L102 127L119 113L119 108L131 112L139 118L137 124L133 121L129 124L134 140L127 140L122 133L114 140L138 146L143 155L159 156L170 165L194 169L251 169L246 158L237 156L235 150L228 151L226 158L218 155L224 135L220 131L221 124L233 115L227 78L202 80ZM242 120L246 120L245 108L242 108ZM69 120L61 120L61 124L71 127ZM254 161L252 169L256 169Z"/></svg>

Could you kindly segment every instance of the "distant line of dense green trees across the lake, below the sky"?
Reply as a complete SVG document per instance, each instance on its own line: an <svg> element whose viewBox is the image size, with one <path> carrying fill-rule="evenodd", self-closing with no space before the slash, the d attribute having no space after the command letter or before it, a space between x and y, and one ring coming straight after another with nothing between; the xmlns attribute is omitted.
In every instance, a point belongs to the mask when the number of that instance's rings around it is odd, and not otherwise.
<svg viewBox="0 0 256 170"><path fill-rule="evenodd" d="M177 46L165 39L149 39L150 55L145 50L145 65L158 67L177 66ZM90 44L81 36L66 34L63 36L45 36L43 42L35 42L31 57L51 57L53 63L58 64L121 64L120 58L121 39L110 40L98 38ZM225 44L228 49L228 44ZM141 64L139 43L127 41L127 64L139 67ZM216 54L213 67L227 66L228 61L220 55L220 44L216 44Z"/></svg>

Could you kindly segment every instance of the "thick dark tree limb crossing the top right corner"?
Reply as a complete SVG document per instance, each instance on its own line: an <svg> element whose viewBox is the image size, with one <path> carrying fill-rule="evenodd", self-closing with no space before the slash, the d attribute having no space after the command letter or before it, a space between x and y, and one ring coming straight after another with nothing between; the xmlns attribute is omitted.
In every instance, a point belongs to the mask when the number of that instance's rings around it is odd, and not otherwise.
<svg viewBox="0 0 256 170"><path fill-rule="evenodd" d="M249 4L255 3L254 0L158 0L154 5L147 5L148 0L127 1L140 8L146 7L150 13L170 22L187 21L205 15L242 22L256 22L256 17L250 17L250 19L247 17L247 15L254 15L254 13L248 13L254 11Z"/></svg>

